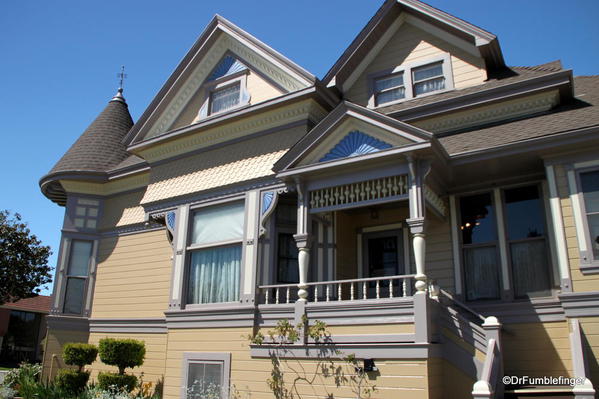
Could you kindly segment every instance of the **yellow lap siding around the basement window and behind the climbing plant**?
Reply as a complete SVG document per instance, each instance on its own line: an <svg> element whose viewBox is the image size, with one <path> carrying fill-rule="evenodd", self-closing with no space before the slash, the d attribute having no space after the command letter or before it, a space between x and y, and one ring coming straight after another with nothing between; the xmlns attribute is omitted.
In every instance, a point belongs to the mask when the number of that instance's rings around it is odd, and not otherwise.
<svg viewBox="0 0 599 399"><path fill-rule="evenodd" d="M365 330L372 331L364 326ZM333 328L331 328L333 330ZM341 329L337 328L340 332ZM344 331L345 332L345 331ZM165 399L179 399L182 359L184 352L225 352L231 353L231 383L239 391L240 397L261 399L273 397L266 380L270 378L272 364L270 359L253 359L250 357L247 335L249 328L221 328L198 330L170 330L166 359ZM359 333L358 330L352 333ZM424 360L377 360L380 375L371 383L377 387L374 397L377 398L426 398L428 389L427 362ZM288 366L303 368L313 376L318 361L290 361ZM346 373L349 373L347 371ZM289 377L293 373L287 374ZM349 374L348 374L349 375ZM331 378L320 375L312 386L299 384L298 389L303 398L325 396L325 392L335 392L335 397L355 397L346 386L335 389Z"/></svg>

